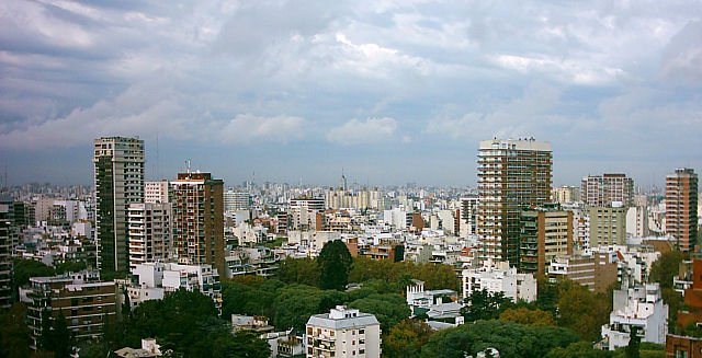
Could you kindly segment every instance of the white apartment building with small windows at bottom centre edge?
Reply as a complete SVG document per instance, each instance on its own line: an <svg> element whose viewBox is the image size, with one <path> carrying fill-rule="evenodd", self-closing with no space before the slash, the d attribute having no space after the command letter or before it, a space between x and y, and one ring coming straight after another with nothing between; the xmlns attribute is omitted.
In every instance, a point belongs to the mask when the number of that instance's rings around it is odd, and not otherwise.
<svg viewBox="0 0 702 358"><path fill-rule="evenodd" d="M308 358L380 358L381 324L375 315L337 305L307 321Z"/></svg>

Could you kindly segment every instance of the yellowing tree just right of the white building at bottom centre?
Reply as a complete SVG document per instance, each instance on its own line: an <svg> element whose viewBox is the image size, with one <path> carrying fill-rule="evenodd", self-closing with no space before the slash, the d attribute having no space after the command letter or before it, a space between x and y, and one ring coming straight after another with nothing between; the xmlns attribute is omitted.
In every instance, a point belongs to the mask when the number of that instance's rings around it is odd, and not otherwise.
<svg viewBox="0 0 702 358"><path fill-rule="evenodd" d="M431 327L424 322L403 320L383 338L383 355L390 358L416 357L431 334Z"/></svg>

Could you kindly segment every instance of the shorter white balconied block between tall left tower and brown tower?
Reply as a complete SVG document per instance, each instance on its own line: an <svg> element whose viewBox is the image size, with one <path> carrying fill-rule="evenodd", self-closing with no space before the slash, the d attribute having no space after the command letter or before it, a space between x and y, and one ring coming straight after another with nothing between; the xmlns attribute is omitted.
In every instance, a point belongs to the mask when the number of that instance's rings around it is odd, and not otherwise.
<svg viewBox="0 0 702 358"><path fill-rule="evenodd" d="M171 204L129 205L129 269L145 262L162 261L171 246Z"/></svg>

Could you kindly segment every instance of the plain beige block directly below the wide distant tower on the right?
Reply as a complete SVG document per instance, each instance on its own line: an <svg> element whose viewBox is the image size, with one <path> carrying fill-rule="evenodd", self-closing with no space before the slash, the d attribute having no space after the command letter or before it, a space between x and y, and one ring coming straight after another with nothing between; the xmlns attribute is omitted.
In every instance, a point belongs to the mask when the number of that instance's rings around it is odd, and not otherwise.
<svg viewBox="0 0 702 358"><path fill-rule="evenodd" d="M590 247L626 244L626 208L590 207Z"/></svg>

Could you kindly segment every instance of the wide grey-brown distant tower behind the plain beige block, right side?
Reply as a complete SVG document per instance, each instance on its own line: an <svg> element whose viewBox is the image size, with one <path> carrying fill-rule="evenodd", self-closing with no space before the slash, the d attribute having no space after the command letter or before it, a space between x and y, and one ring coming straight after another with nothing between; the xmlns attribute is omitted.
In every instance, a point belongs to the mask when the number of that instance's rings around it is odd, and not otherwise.
<svg viewBox="0 0 702 358"><path fill-rule="evenodd" d="M634 205L634 180L626 174L602 174L582 177L582 201L593 207L611 207L621 201Z"/></svg>

